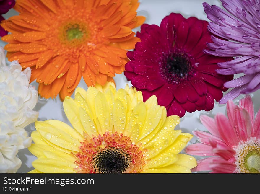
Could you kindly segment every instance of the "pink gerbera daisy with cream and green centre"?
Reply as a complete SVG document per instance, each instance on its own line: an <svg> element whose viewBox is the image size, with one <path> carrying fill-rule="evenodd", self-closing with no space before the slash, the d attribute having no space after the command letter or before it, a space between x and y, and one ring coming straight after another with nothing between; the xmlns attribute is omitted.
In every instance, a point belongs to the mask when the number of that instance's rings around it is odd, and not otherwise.
<svg viewBox="0 0 260 194"><path fill-rule="evenodd" d="M213 156L198 161L194 171L211 173L260 172L260 110L254 119L254 106L250 96L235 105L227 104L227 114L219 113L215 120L202 115L201 122L211 133L194 131L201 143L186 148L188 154Z"/></svg>

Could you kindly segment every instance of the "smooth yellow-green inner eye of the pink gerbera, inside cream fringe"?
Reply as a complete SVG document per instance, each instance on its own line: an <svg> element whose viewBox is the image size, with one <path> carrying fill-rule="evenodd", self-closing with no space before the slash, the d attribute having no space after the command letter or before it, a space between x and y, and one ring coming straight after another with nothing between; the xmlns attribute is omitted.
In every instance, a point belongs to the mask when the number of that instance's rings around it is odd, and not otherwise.
<svg viewBox="0 0 260 194"><path fill-rule="evenodd" d="M259 173L260 172L260 151L253 150L248 152L245 157L244 166L251 173Z"/></svg>

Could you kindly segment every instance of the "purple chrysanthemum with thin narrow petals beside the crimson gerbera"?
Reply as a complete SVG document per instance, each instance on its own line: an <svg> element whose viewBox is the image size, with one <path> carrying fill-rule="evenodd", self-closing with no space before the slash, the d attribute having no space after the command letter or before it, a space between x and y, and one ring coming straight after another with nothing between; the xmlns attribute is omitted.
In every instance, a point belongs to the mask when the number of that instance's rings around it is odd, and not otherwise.
<svg viewBox="0 0 260 194"><path fill-rule="evenodd" d="M205 53L222 57L236 57L232 61L218 63L224 75L244 73L238 79L224 84L234 88L220 101L225 104L240 94L248 94L260 89L260 2L259 0L220 0L224 11L216 5L203 3L209 22L209 31L228 39L212 36Z"/></svg>

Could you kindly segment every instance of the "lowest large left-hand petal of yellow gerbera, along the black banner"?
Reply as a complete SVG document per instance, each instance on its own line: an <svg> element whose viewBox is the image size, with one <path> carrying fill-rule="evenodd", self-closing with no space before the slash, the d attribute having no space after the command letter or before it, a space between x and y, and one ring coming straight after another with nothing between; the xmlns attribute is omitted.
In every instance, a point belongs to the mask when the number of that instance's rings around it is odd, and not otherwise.
<svg viewBox="0 0 260 194"><path fill-rule="evenodd" d="M64 162L58 159L36 159L32 162L32 166L43 173L74 173L76 164L71 165L71 162Z"/></svg>

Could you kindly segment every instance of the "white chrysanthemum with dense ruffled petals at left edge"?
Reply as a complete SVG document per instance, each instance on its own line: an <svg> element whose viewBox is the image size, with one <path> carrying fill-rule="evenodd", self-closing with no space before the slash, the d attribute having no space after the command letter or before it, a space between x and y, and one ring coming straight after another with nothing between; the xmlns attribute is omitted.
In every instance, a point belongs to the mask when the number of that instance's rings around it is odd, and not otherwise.
<svg viewBox="0 0 260 194"><path fill-rule="evenodd" d="M38 118L33 111L38 92L29 86L31 69L17 61L6 66L4 49L0 47L0 172L14 173L22 162L17 158L19 149L31 145L24 127Z"/></svg>

